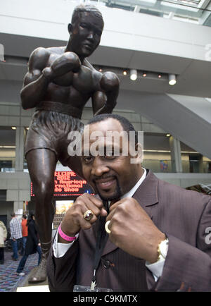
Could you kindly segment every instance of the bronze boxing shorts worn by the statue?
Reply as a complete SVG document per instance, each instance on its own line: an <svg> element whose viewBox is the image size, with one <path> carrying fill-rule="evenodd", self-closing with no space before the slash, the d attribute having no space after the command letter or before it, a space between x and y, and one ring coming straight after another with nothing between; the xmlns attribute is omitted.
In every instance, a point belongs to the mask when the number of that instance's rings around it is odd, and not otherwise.
<svg viewBox="0 0 211 306"><path fill-rule="evenodd" d="M55 105L54 102L51 103ZM67 166L70 158L68 134L74 130L82 133L84 125L79 118L75 117L74 112L72 112L74 116L71 116L70 111L66 111L66 114L59 109L54 111L55 106L53 111L46 109L47 107L37 108L32 116L25 142L25 157L32 149L49 149L56 154L56 158L63 166Z"/></svg>

